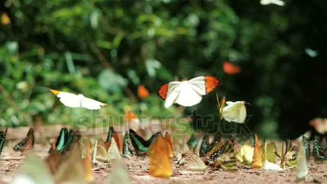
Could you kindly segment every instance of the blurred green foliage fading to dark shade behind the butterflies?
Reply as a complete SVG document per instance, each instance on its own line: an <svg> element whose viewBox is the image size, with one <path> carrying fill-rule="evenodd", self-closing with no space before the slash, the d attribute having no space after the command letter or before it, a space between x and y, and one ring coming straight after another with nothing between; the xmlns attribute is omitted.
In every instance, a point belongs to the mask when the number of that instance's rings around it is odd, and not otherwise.
<svg viewBox="0 0 327 184"><path fill-rule="evenodd" d="M162 119L198 110L214 114L217 124L215 93L183 112L165 109L156 96L174 78L213 75L222 80L220 95L251 104L251 131L296 137L327 112L327 3L259 2L6 0L0 5L10 19L0 25L0 126L74 125L81 114L122 123L126 106ZM224 61L241 72L225 74ZM148 99L137 97L139 84L150 91ZM67 108L50 87L110 105L96 112Z"/></svg>

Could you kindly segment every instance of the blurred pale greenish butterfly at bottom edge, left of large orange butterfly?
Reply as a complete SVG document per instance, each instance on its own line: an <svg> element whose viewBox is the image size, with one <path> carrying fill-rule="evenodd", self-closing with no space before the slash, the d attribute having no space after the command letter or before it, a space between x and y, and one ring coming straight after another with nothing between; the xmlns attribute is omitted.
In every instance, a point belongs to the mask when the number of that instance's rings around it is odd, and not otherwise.
<svg viewBox="0 0 327 184"><path fill-rule="evenodd" d="M129 184L130 180L128 178L127 172L123 167L123 163L120 160L115 160L111 172L108 174L106 183L120 183Z"/></svg>

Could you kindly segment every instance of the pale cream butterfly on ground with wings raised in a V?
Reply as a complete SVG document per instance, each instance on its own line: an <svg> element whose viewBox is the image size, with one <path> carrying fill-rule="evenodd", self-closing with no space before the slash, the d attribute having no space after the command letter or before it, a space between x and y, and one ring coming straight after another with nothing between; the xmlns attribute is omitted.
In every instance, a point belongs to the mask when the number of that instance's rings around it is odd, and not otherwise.
<svg viewBox="0 0 327 184"><path fill-rule="evenodd" d="M121 159L121 155L114 139L111 139L109 149L102 139L97 141L96 159L101 162L108 162L112 159Z"/></svg>

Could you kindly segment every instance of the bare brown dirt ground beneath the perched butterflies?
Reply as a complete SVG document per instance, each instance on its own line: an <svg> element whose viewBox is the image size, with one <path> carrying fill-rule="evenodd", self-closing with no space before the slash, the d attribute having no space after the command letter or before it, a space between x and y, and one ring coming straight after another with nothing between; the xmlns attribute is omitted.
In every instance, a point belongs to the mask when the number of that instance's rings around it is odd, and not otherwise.
<svg viewBox="0 0 327 184"><path fill-rule="evenodd" d="M40 157L48 155L48 146L36 144L34 152ZM173 176L169 179L160 179L150 176L148 172L149 159L147 157L124 158L131 183L294 183L296 170L262 171L239 167L237 172L213 171L189 172L183 166L173 161ZM0 156L0 183L10 183L24 163L24 156L5 147ZM309 171L320 183L327 183L327 162L318 163L309 160ZM95 182L105 183L106 175L111 171L109 164L94 167ZM301 182L303 183L303 181Z"/></svg>

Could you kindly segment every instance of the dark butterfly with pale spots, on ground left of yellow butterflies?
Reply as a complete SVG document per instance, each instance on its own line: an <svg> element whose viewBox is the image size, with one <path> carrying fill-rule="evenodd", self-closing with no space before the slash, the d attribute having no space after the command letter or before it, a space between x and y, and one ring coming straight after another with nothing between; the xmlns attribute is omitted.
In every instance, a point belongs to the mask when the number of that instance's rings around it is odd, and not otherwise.
<svg viewBox="0 0 327 184"><path fill-rule="evenodd" d="M230 139L218 143L211 151L209 151L208 155L209 160L213 161L213 166L215 169L237 169L234 146Z"/></svg>

